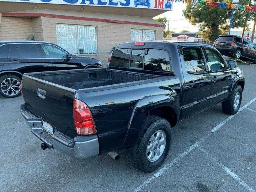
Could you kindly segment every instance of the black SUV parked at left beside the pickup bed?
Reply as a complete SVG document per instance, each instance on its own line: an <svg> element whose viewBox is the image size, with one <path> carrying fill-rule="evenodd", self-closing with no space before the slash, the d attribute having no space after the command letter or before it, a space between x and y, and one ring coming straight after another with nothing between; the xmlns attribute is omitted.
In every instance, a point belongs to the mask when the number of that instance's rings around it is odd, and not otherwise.
<svg viewBox="0 0 256 192"><path fill-rule="evenodd" d="M24 73L100 67L99 60L72 55L53 43L0 41L0 94L18 96Z"/></svg>

